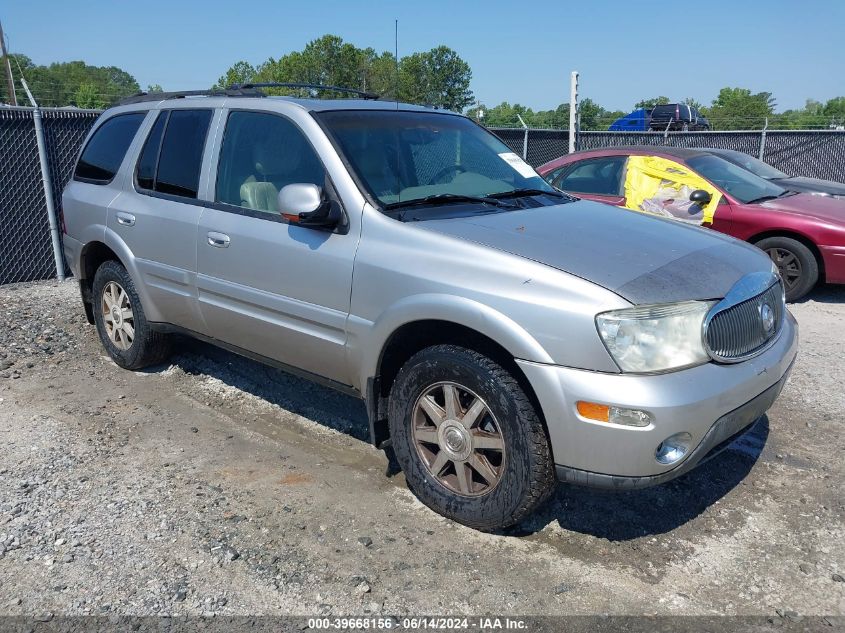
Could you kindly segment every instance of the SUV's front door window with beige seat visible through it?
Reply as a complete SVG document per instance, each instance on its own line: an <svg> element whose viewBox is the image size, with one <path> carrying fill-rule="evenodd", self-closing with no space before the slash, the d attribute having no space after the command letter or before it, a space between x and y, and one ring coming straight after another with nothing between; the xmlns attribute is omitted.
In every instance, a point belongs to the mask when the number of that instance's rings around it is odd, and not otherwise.
<svg viewBox="0 0 845 633"><path fill-rule="evenodd" d="M217 202L276 214L285 185L325 186L326 170L305 135L288 119L232 112L217 168Z"/></svg>

